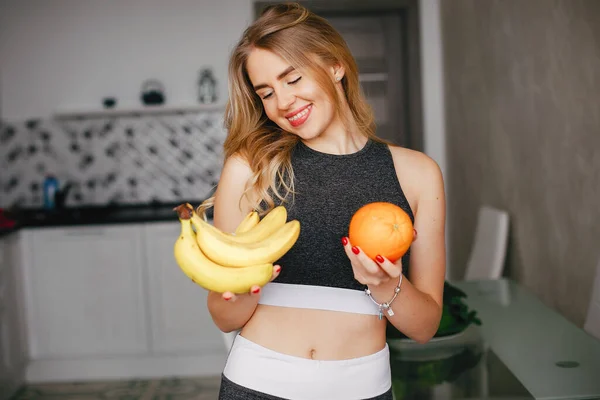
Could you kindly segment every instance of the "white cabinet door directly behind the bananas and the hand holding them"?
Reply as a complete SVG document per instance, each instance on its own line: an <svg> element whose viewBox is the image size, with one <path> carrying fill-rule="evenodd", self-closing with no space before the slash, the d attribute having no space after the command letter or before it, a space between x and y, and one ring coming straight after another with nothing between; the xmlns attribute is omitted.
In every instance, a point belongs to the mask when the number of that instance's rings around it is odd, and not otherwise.
<svg viewBox="0 0 600 400"><path fill-rule="evenodd" d="M177 221L146 225L153 351L225 354L223 335L206 307L208 292L175 262L179 229Z"/></svg>

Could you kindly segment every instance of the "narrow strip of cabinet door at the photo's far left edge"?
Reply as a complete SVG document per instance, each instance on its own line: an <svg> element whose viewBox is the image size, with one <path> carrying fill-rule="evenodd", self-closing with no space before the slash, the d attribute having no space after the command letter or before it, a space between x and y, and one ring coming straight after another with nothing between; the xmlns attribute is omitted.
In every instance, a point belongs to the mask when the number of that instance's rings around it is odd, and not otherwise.
<svg viewBox="0 0 600 400"><path fill-rule="evenodd" d="M19 244L18 233L0 238L0 400L23 384L27 367Z"/></svg>

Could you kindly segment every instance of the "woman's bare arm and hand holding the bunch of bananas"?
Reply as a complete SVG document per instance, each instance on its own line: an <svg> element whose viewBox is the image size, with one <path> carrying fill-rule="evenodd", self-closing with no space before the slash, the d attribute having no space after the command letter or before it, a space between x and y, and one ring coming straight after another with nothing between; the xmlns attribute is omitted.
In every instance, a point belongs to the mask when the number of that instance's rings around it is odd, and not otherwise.
<svg viewBox="0 0 600 400"><path fill-rule="evenodd" d="M215 192L214 225L223 232L233 232L244 216L252 209L246 199L242 200L245 185L251 176L250 167L240 158L231 157L223 166ZM275 267L276 269L278 266ZM277 273L273 272L273 278ZM207 306L215 325L223 332L241 329L256 309L260 296L258 286L251 293L234 295L231 292L209 292Z"/></svg>

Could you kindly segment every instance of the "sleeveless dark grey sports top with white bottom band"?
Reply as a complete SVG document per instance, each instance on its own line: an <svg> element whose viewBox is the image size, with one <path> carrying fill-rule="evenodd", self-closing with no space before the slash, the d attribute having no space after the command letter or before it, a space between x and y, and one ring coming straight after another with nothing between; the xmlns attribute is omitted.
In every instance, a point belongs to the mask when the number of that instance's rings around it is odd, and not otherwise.
<svg viewBox="0 0 600 400"><path fill-rule="evenodd" d="M365 286L354 279L342 238L348 235L352 215L370 202L396 204L414 222L388 145L370 139L355 153L335 155L299 142L292 167L295 196L284 205L288 220L300 221L300 236L277 261L281 272L263 288L259 303L377 314L377 307L364 294ZM402 257L405 275L409 262L410 249ZM346 298L335 300L340 296ZM340 310L332 303L347 306L341 305Z"/></svg>

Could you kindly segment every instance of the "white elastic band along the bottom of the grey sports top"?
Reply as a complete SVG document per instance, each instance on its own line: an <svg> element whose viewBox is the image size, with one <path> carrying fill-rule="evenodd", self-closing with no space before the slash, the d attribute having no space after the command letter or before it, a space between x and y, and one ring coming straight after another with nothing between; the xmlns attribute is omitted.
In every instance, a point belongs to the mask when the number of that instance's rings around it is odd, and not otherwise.
<svg viewBox="0 0 600 400"><path fill-rule="evenodd" d="M258 304L379 315L361 290L271 282L262 288Z"/></svg>

